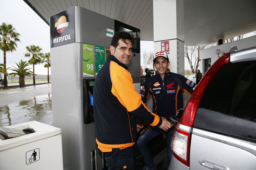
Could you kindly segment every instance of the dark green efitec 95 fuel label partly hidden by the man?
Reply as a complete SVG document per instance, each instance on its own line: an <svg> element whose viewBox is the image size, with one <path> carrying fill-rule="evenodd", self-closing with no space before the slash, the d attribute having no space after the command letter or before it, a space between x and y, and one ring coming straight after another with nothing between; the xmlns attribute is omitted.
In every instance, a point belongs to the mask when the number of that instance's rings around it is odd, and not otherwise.
<svg viewBox="0 0 256 170"><path fill-rule="evenodd" d="M95 46L95 73L96 76L105 64L105 47Z"/></svg>

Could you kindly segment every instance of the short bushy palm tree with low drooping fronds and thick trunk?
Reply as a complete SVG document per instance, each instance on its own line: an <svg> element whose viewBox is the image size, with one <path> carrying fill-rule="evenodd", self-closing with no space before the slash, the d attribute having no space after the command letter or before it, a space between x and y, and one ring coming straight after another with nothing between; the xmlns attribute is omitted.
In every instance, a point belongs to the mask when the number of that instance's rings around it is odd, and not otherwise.
<svg viewBox="0 0 256 170"><path fill-rule="evenodd" d="M17 67L12 66L8 68L8 70L14 71L13 73L10 73L10 75L13 74L13 77L15 77L16 75L19 75L20 87L25 87L25 76L30 77L31 75L34 75L34 72L29 70L31 68L27 68L29 63L27 63L26 61L20 60L19 64L16 63L16 65Z"/></svg>

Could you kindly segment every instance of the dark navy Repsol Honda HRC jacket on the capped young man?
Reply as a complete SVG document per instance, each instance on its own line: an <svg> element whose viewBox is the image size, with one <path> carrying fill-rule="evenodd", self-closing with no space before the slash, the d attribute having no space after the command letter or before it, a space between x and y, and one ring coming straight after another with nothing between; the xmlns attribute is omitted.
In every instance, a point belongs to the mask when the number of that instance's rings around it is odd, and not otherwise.
<svg viewBox="0 0 256 170"><path fill-rule="evenodd" d="M191 95L196 84L184 76L168 71L164 80L160 74L148 78L140 90L141 100L147 105L150 95L153 98L153 113L159 117L170 117L183 108L182 91ZM182 88L182 89L181 89ZM151 109L151 108L150 108Z"/></svg>

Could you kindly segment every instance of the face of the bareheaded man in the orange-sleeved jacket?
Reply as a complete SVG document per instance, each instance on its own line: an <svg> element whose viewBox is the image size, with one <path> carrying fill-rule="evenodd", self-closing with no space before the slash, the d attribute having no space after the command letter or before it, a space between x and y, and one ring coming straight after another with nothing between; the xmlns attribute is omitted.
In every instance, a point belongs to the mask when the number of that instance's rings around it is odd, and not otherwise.
<svg viewBox="0 0 256 170"><path fill-rule="evenodd" d="M124 65L129 64L132 57L132 42L130 40L126 40L126 42L127 44L124 41L119 40L119 44L116 48L110 46L111 54Z"/></svg>

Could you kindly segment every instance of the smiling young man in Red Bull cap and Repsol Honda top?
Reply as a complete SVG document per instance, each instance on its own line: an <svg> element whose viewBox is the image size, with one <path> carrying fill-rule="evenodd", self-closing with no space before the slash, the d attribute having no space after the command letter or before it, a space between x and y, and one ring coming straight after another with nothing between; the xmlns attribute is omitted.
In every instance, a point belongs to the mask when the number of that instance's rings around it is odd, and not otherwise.
<svg viewBox="0 0 256 170"><path fill-rule="evenodd" d="M168 55L159 51L153 57L153 64L156 68L156 75L148 78L140 91L141 100L147 105L150 95L153 97L153 113L159 117L175 116L180 108L183 108L182 92L191 95L195 88L195 83L184 76L170 72ZM156 169L156 165L150 155L147 143L152 138L160 134L159 128L148 128L138 139L137 143L144 154L144 162L147 169ZM171 141L173 128L165 133L167 143L167 168L172 158Z"/></svg>

